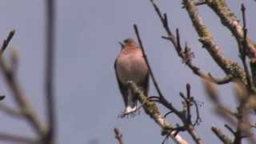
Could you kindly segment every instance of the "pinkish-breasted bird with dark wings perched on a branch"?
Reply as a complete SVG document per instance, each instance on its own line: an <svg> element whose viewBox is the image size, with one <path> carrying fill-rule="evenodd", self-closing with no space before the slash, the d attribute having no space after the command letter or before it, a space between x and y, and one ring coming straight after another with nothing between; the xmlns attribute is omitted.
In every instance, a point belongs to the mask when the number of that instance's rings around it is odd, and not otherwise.
<svg viewBox="0 0 256 144"><path fill-rule="evenodd" d="M142 50L132 38L127 38L114 62L114 70L118 86L122 94L126 109L125 114L136 110L138 98L127 86L127 82L134 82L145 95L149 88L149 70L143 58Z"/></svg>

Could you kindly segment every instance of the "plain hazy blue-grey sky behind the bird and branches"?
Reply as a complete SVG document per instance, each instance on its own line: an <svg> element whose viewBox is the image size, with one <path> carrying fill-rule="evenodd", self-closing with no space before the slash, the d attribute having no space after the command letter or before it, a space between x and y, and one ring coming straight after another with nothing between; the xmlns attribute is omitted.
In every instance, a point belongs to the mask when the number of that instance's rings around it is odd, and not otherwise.
<svg viewBox="0 0 256 144"><path fill-rule="evenodd" d="M182 44L188 42L195 54L193 62L201 70L214 76L224 73L202 49L198 35L191 26L186 10L181 9L181 0L158 0L162 12L169 15L171 30L179 28ZM253 0L227 0L230 9L241 19L240 4L247 8L249 36L256 39L256 2ZM120 51L118 42L124 38L136 38L133 24L138 24L146 54L154 75L165 97L182 108L180 91L186 83L192 86L192 95L199 102L202 123L196 127L206 143L220 142L211 132L210 126L224 129L225 122L213 113L214 106L202 89L200 78L182 64L174 47L163 40L166 35L149 0L58 0L56 30L56 74L55 87L58 113L58 143L103 144L118 143L114 138L114 127L118 127L129 143L161 143L163 138L158 125L143 111L135 118L118 118L124 110L122 96L114 74L114 59ZM206 6L198 7L202 18L222 47L226 57L239 62L238 47L230 31L222 26L217 16ZM34 110L45 121L43 91L45 19L42 0L2 0L0 2L0 40L10 30L16 34L4 54L10 59L10 51L17 50L19 56L18 80L32 102ZM239 62L241 64L241 62ZM0 94L6 94L8 105L15 107L10 90L0 75ZM226 106L234 108L232 85L218 86L219 94ZM156 95L150 86L150 95ZM160 106L162 113L167 110ZM169 122L178 118L170 115ZM34 137L33 130L21 119L0 113L0 133ZM183 134L187 141L190 136ZM4 144L6 142L1 142ZM169 143L172 143L171 141ZM192 142L193 143L193 142Z"/></svg>

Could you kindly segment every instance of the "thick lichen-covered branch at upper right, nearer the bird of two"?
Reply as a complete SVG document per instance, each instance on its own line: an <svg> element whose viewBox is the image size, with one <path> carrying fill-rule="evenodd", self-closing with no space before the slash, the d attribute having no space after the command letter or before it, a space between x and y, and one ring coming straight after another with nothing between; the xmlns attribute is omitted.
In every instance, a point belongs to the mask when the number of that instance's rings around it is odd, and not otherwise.
<svg viewBox="0 0 256 144"><path fill-rule="evenodd" d="M242 82L246 83L245 74L242 68L238 66L238 63L232 62L229 58L225 58L217 43L214 42L214 37L202 22L202 18L198 13L194 1L183 0L183 4L186 6L186 11L190 15L191 22L200 37L199 41L202 43L202 46L206 48L214 61L226 74L232 74L234 77L239 78Z"/></svg>

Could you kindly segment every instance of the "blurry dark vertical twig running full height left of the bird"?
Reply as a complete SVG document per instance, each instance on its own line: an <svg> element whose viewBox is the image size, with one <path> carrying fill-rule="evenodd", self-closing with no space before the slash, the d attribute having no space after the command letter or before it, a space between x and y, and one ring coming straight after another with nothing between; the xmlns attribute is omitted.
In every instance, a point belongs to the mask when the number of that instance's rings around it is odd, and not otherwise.
<svg viewBox="0 0 256 144"><path fill-rule="evenodd" d="M46 111L49 131L46 135L47 143L54 143L55 137L55 106L54 106L54 0L46 0Z"/></svg>

